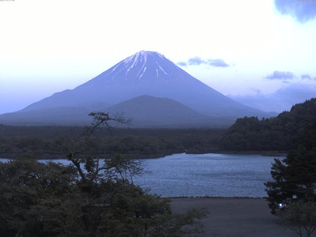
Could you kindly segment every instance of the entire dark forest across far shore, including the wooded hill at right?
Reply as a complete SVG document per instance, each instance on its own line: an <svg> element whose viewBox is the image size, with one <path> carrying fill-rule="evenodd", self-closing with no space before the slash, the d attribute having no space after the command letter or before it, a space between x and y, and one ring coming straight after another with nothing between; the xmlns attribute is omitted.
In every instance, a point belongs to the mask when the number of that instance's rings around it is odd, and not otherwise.
<svg viewBox="0 0 316 237"><path fill-rule="evenodd" d="M227 151L284 151L304 142L315 143L316 98L294 105L274 118L239 118L225 129L115 129L95 131L91 148L100 157L123 154L155 158L173 153ZM85 127L6 126L0 124L0 157L29 154L37 158L65 158L62 141L84 139Z"/></svg>

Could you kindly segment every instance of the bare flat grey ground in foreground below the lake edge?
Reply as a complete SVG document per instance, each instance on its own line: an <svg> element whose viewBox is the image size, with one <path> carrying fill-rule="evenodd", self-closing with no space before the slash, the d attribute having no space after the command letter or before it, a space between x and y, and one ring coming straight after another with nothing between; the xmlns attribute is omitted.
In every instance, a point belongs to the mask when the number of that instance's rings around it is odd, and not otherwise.
<svg viewBox="0 0 316 237"><path fill-rule="evenodd" d="M174 198L172 212L190 208L207 208L209 215L202 223L204 234L198 237L295 237L276 224L265 199L248 198ZM316 236L314 234L314 236Z"/></svg>

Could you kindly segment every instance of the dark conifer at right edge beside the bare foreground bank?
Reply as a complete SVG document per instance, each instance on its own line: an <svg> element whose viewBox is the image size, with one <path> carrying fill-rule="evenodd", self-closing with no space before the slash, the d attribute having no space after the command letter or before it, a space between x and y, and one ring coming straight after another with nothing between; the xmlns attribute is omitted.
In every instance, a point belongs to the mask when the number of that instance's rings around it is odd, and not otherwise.
<svg viewBox="0 0 316 237"><path fill-rule="evenodd" d="M283 160L275 159L271 168L273 181L265 183L269 207L276 213L286 200L316 201L316 150L300 146Z"/></svg>

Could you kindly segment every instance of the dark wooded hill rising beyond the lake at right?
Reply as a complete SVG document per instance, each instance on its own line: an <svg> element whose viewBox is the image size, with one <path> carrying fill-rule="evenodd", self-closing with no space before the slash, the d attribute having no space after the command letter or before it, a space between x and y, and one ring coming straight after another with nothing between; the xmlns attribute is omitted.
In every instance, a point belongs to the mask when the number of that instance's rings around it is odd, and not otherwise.
<svg viewBox="0 0 316 237"><path fill-rule="evenodd" d="M301 144L312 146L316 124L316 98L294 105L274 118L239 118L222 138L226 151L289 151ZM310 144L309 144L310 143Z"/></svg>

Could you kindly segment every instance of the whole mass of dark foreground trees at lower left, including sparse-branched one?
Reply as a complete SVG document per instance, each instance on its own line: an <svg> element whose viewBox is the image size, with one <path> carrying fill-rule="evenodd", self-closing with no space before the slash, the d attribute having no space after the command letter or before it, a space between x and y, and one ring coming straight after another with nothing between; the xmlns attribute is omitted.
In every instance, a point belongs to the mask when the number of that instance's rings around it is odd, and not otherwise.
<svg viewBox="0 0 316 237"><path fill-rule="evenodd" d="M201 232L205 210L172 214L169 199L132 183L134 175L145 172L139 161L118 155L102 163L85 153L97 128L126 122L101 112L90 115L94 122L84 139L62 142L72 164L26 158L0 163L0 236L180 237Z"/></svg>

